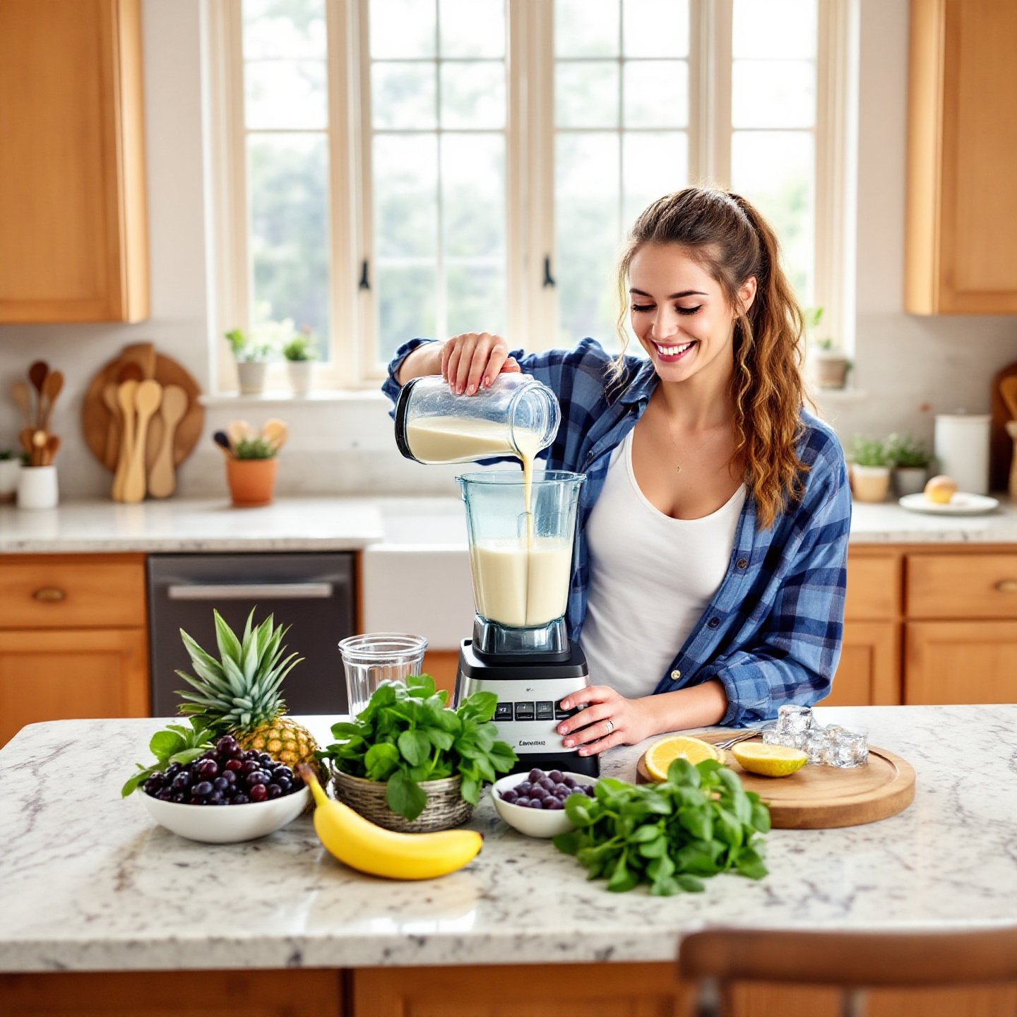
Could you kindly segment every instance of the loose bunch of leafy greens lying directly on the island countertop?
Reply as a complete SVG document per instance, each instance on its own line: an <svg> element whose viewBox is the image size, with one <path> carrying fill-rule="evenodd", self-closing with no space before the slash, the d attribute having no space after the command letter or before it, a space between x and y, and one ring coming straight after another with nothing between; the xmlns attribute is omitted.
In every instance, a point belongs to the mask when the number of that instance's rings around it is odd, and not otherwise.
<svg viewBox="0 0 1017 1017"><path fill-rule="evenodd" d="M677 759L660 784L603 778L596 797L574 794L565 813L576 830L558 834L554 846L616 893L649 883L651 894L669 897L700 893L704 876L767 874L761 835L770 811L716 760L693 766Z"/></svg>

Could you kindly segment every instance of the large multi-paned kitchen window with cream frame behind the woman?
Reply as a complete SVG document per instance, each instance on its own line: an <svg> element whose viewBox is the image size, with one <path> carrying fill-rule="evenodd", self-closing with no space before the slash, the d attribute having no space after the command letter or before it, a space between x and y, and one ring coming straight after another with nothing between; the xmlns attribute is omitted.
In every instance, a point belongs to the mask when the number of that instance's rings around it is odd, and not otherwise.
<svg viewBox="0 0 1017 1017"><path fill-rule="evenodd" d="M331 387L416 335L612 346L625 230L692 181L839 321L851 2L214 5L220 331L312 328Z"/></svg>

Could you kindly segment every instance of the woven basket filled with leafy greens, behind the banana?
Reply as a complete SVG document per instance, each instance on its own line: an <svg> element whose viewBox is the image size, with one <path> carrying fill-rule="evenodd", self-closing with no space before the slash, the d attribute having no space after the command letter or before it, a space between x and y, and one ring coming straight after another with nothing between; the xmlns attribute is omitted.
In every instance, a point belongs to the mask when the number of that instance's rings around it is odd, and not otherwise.
<svg viewBox="0 0 1017 1017"><path fill-rule="evenodd" d="M384 681L320 756L336 797L388 830L446 830L469 819L484 781L518 761L496 738L494 693L476 692L456 709L428 674Z"/></svg>

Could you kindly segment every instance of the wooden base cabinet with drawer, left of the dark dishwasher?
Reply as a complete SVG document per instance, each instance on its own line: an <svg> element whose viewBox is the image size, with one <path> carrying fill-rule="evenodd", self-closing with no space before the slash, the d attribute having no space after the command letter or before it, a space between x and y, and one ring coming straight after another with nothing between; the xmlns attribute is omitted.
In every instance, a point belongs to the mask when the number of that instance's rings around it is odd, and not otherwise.
<svg viewBox="0 0 1017 1017"><path fill-rule="evenodd" d="M0 746L25 724L149 715L142 555L0 561Z"/></svg>

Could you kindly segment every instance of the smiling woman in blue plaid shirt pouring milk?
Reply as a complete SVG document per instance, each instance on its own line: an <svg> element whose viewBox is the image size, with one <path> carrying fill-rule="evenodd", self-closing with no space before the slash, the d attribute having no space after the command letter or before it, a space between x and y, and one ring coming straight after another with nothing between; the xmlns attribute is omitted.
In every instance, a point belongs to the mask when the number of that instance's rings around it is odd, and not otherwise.
<svg viewBox="0 0 1017 1017"><path fill-rule="evenodd" d="M801 312L744 198L687 188L637 220L618 266L622 352L524 355L487 333L414 340L385 392L503 366L557 394L550 469L587 475L569 600L590 687L562 701L581 755L743 725L827 696L840 656L851 498L833 431L803 406ZM625 354L625 309L648 359Z"/></svg>

